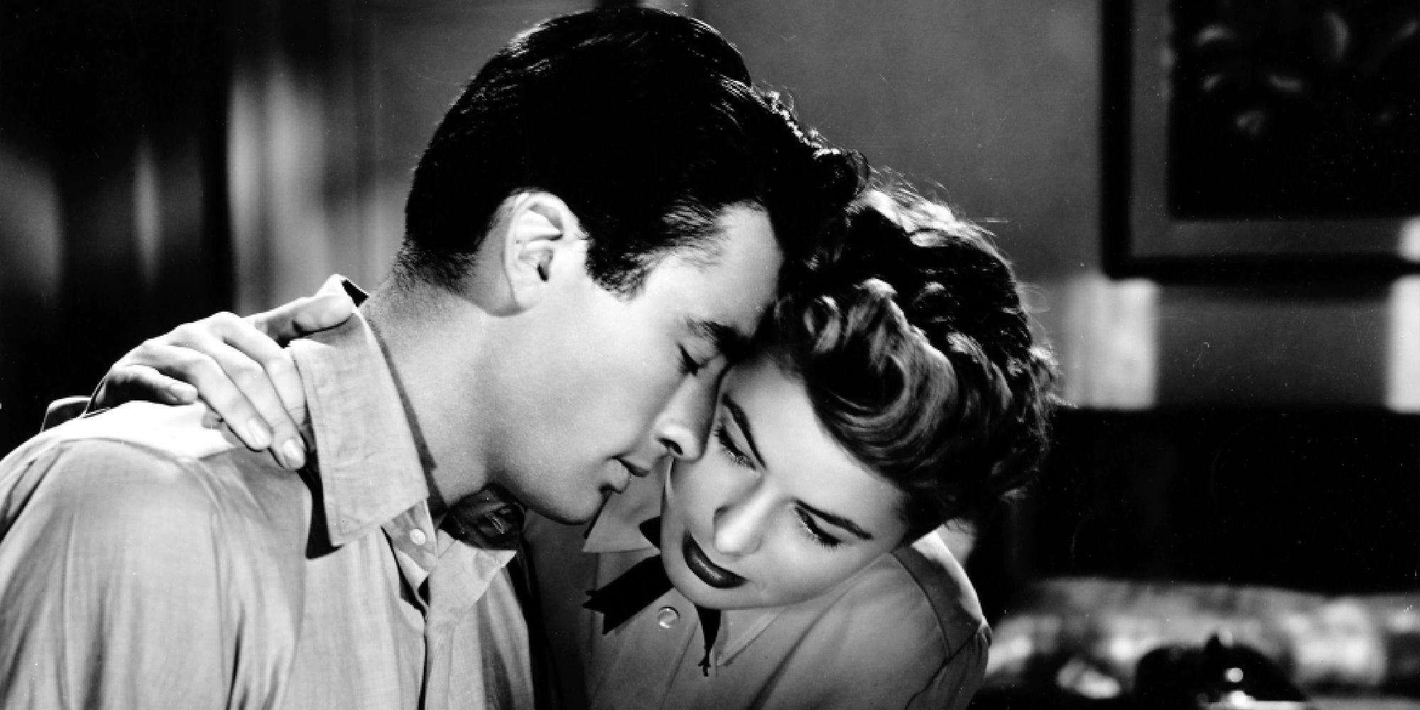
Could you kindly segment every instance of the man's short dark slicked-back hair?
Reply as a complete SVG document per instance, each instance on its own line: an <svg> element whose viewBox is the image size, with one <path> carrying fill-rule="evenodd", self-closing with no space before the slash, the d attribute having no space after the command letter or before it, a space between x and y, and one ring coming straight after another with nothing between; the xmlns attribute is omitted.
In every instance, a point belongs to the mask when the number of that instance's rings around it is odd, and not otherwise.
<svg viewBox="0 0 1420 710"><path fill-rule="evenodd" d="M791 263L862 172L751 87L707 24L640 7L569 14L508 43L444 115L415 169L396 273L456 284L498 204L534 189L577 214L591 275L616 293L670 251L713 254L731 206L763 207Z"/></svg>

